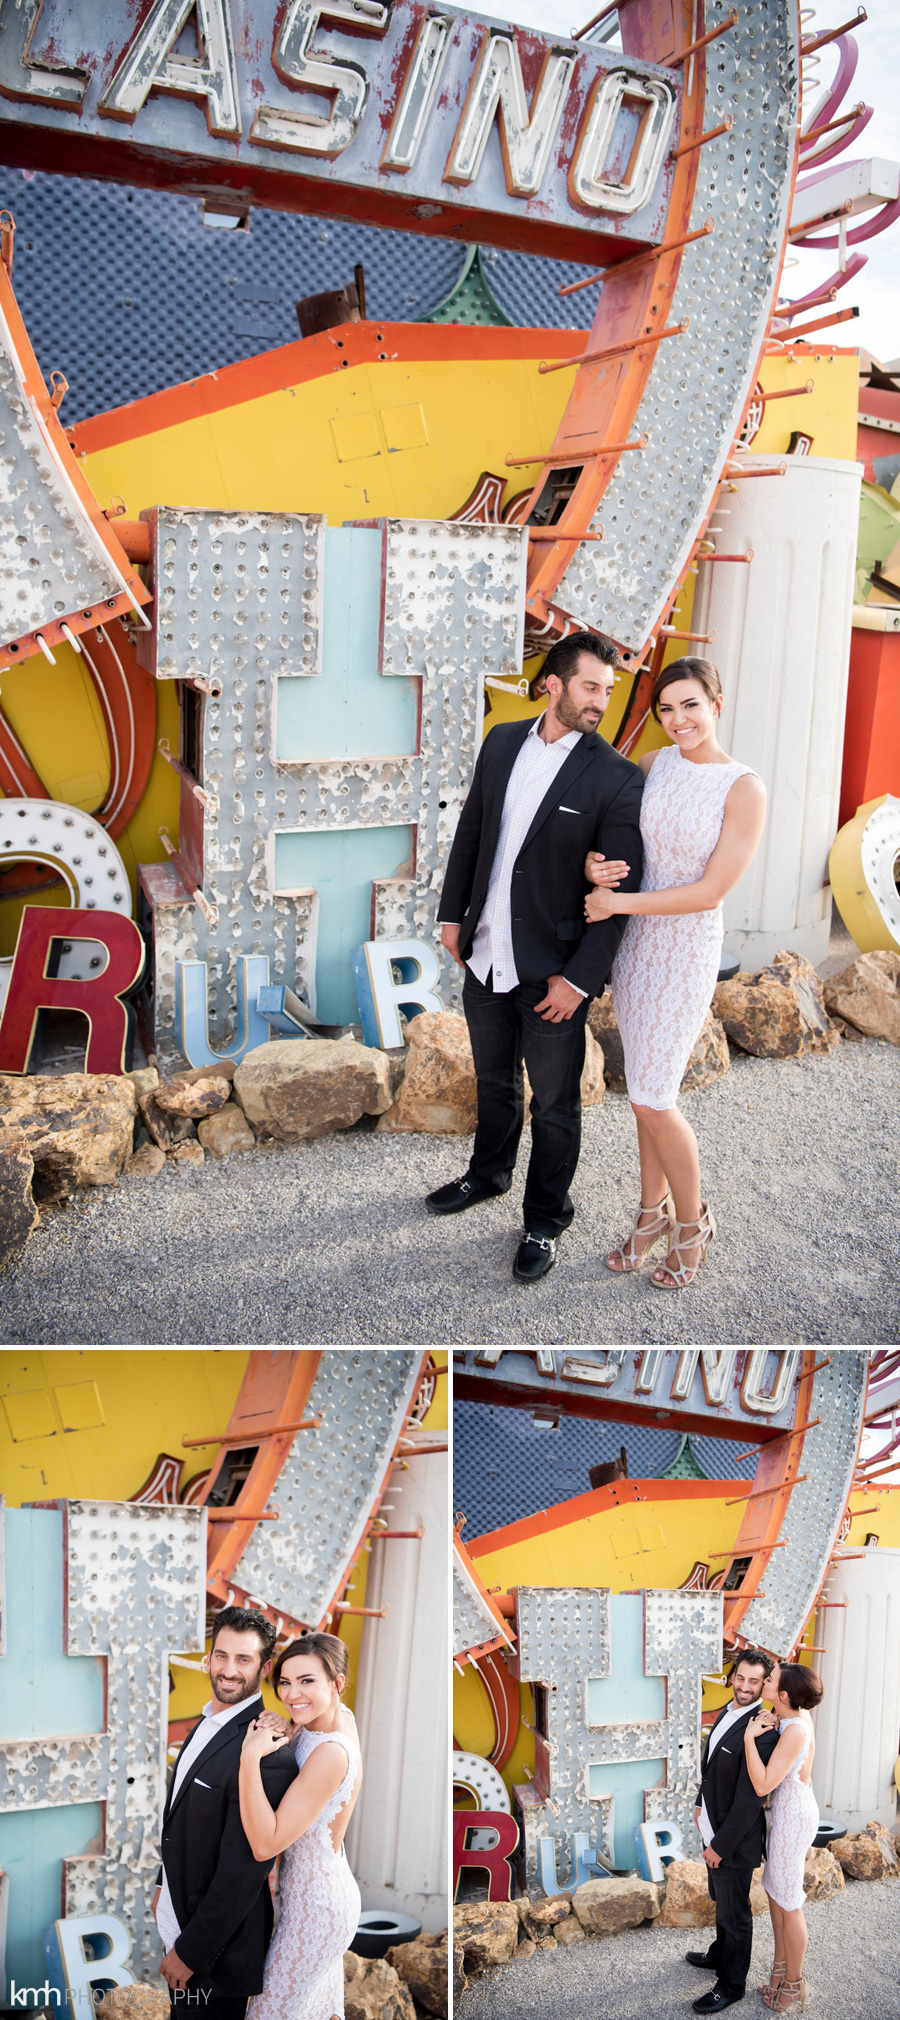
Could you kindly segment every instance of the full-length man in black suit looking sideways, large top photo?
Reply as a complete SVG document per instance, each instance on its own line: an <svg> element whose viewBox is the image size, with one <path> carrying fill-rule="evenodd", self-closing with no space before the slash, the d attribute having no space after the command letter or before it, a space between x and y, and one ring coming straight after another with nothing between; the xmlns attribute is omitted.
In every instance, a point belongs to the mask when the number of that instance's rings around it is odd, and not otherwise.
<svg viewBox="0 0 900 2020"><path fill-rule="evenodd" d="M509 1192L525 1058L531 1162L513 1271L523 1283L553 1267L575 1212L587 1004L603 992L626 929L622 915L585 923L585 856L599 850L609 883L626 891L640 889L644 869L642 772L597 735L615 665L611 638L593 632L551 646L547 711L498 723L482 743L438 907L444 947L466 970L478 1127L464 1178L438 1186L426 1204L458 1214Z"/></svg>

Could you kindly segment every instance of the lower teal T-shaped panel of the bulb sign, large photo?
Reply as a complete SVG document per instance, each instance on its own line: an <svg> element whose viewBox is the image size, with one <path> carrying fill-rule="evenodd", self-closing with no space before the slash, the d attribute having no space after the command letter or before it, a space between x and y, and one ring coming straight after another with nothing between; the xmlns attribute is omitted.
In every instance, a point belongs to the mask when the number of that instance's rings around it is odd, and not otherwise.
<svg viewBox="0 0 900 2020"><path fill-rule="evenodd" d="M276 834L274 889L319 899L315 1016L355 1024L353 949L371 939L371 883L398 877L412 856L412 828L341 828L337 834Z"/></svg>

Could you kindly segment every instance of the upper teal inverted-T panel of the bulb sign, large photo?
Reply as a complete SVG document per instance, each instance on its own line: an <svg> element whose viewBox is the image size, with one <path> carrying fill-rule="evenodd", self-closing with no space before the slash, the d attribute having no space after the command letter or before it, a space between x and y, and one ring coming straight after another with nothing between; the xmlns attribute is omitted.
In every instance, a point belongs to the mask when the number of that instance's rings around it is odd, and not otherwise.
<svg viewBox="0 0 900 2020"><path fill-rule="evenodd" d="M381 553L381 533L373 527L325 533L323 671L283 675L276 683L278 764L416 753L422 683L377 671Z"/></svg>

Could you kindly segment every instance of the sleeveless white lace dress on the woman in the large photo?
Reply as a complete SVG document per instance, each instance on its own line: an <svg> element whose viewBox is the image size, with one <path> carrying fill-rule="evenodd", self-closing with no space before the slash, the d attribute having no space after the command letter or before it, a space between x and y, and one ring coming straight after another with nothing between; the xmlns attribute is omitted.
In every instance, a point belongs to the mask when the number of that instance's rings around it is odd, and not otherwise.
<svg viewBox="0 0 900 2020"><path fill-rule="evenodd" d="M747 764L692 764L676 743L654 758L640 808L642 891L698 883L718 842L728 792L749 770ZM611 968L611 998L632 1101L674 1109L712 1002L720 953L720 905L628 919Z"/></svg>

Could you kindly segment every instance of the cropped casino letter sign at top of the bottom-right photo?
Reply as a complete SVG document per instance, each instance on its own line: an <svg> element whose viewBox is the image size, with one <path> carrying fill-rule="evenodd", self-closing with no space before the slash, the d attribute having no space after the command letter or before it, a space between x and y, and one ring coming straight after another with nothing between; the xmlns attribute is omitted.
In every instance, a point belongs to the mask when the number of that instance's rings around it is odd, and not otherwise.
<svg viewBox="0 0 900 2020"><path fill-rule="evenodd" d="M456 1355L456 1396L484 1402L553 1404L569 1416L674 1424L743 1438L793 1424L799 1347L478 1347Z"/></svg>

